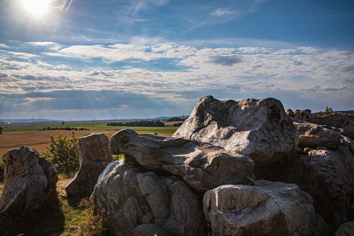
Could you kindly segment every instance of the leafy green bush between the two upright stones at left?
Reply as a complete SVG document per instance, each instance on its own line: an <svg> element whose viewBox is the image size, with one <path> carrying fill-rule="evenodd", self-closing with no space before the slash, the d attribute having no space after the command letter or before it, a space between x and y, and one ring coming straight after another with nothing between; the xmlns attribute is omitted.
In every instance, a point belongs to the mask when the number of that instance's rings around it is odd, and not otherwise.
<svg viewBox="0 0 354 236"><path fill-rule="evenodd" d="M47 147L47 152L41 155L50 160L56 167L59 174L69 175L79 170L79 138L72 131L72 136L63 136L58 132L57 137L49 136L51 142Z"/></svg>

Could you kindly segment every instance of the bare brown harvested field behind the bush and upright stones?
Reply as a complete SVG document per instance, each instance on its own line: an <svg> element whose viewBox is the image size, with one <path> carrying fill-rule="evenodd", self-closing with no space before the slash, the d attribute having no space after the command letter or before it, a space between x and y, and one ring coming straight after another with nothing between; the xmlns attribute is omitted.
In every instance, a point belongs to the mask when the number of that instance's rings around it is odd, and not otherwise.
<svg viewBox="0 0 354 236"><path fill-rule="evenodd" d="M71 136L71 131L61 130L63 135ZM94 133L95 131L75 131L75 135L82 137L86 134ZM106 136L111 137L117 131L97 131L96 133L104 133ZM45 131L27 131L27 132L14 132L3 133L0 135L0 157L2 157L8 150L19 148L22 145L30 146L38 152L45 152L46 145L50 142L48 135L57 136L55 130Z"/></svg>

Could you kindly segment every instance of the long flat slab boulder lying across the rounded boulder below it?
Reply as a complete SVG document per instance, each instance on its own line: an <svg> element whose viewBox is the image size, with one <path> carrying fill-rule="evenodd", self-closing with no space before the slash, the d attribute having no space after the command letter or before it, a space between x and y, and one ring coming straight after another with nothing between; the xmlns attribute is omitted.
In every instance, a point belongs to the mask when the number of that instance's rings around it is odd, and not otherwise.
<svg viewBox="0 0 354 236"><path fill-rule="evenodd" d="M199 191L224 184L252 183L253 161L238 151L184 138L139 135L122 129L110 139L110 150L140 165L174 174Z"/></svg>

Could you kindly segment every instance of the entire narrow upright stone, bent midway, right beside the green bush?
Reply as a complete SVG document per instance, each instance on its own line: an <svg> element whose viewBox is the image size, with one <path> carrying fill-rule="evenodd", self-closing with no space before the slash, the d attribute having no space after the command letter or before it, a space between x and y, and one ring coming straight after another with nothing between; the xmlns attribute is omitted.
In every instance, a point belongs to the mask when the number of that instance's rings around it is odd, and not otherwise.
<svg viewBox="0 0 354 236"><path fill-rule="evenodd" d="M67 197L73 203L91 195L99 175L112 161L107 136L92 133L79 138L79 160L78 173L65 187Z"/></svg>

